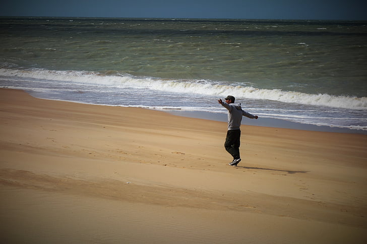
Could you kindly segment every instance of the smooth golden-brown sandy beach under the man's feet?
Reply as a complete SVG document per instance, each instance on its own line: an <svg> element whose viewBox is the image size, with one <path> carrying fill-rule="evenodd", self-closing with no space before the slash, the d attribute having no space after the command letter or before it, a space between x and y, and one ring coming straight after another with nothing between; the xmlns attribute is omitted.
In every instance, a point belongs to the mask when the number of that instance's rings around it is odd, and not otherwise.
<svg viewBox="0 0 367 244"><path fill-rule="evenodd" d="M3 243L366 243L367 135L0 89ZM246 118L244 118L246 122Z"/></svg>

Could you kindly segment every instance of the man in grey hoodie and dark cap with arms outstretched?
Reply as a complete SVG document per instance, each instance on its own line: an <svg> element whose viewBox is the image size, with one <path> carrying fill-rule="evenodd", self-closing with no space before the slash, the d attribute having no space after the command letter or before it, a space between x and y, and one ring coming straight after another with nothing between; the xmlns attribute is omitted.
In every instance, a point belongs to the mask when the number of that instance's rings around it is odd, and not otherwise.
<svg viewBox="0 0 367 244"><path fill-rule="evenodd" d="M237 166L241 158L239 157L239 144L241 131L239 126L241 125L242 116L246 116L250 119L258 119L258 116L252 115L241 109L241 106L234 105L235 98L233 96L227 96L225 103L221 99L218 100L224 108L228 110L228 131L225 138L224 148L233 156L233 161L229 163L230 166Z"/></svg>

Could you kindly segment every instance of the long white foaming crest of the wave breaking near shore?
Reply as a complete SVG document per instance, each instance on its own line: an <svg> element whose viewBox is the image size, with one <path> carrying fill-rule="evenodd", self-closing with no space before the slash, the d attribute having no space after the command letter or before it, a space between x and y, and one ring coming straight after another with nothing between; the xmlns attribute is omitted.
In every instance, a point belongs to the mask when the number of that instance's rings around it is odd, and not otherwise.
<svg viewBox="0 0 367 244"><path fill-rule="evenodd" d="M211 80L163 80L153 77L136 77L128 74L103 75L89 71L57 71L46 69L5 69L0 68L0 75L26 77L34 79L58 80L78 84L109 86L118 88L151 89L164 92L200 94L225 97L228 94L240 99L273 100L284 103L328 106L347 109L367 109L367 97L332 96L328 94L305 94L286 92L278 89L257 89Z"/></svg>

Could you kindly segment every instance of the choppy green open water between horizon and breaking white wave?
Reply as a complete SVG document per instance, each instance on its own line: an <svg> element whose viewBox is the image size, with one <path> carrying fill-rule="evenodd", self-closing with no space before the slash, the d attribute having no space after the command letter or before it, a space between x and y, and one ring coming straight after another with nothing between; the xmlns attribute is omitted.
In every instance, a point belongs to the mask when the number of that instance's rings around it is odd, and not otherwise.
<svg viewBox="0 0 367 244"><path fill-rule="evenodd" d="M0 19L0 61L366 96L366 22Z"/></svg>

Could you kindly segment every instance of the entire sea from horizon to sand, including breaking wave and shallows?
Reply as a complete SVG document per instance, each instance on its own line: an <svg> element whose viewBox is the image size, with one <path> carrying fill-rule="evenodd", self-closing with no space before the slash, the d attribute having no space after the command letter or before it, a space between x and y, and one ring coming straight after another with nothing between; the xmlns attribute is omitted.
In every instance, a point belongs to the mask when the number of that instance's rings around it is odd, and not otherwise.
<svg viewBox="0 0 367 244"><path fill-rule="evenodd" d="M0 86L38 98L367 131L367 21L0 18Z"/></svg>

